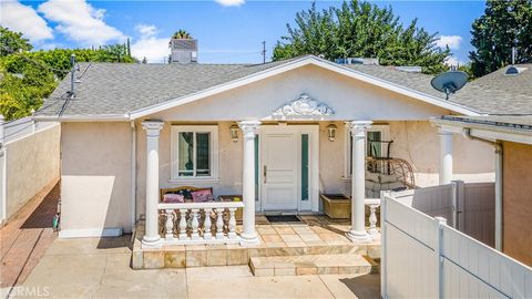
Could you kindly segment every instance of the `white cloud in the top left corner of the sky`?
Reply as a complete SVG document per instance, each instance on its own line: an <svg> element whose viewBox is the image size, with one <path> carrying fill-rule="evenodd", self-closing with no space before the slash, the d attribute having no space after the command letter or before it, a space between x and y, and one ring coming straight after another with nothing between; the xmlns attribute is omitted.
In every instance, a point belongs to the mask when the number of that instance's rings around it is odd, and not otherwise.
<svg viewBox="0 0 532 299"><path fill-rule="evenodd" d="M32 42L52 39L52 29L37 11L17 0L0 0L0 24L12 31L24 33Z"/></svg>

